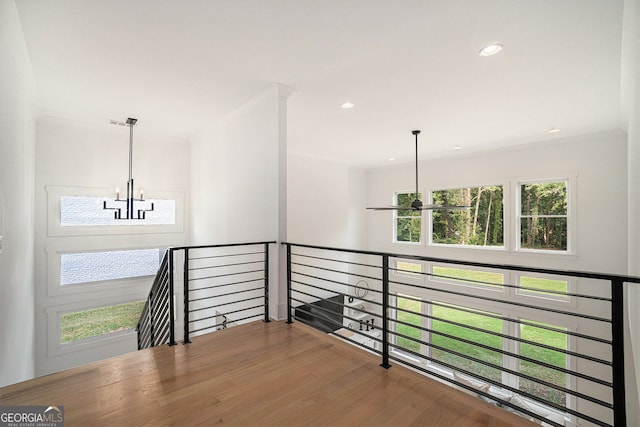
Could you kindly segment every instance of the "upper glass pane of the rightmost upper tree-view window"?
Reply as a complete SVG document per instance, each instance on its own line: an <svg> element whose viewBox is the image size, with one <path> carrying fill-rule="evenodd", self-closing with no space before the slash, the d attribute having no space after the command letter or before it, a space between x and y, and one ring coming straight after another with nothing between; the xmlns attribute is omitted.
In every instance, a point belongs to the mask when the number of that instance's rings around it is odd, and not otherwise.
<svg viewBox="0 0 640 427"><path fill-rule="evenodd" d="M522 215L566 215L567 183L540 182L520 185Z"/></svg>

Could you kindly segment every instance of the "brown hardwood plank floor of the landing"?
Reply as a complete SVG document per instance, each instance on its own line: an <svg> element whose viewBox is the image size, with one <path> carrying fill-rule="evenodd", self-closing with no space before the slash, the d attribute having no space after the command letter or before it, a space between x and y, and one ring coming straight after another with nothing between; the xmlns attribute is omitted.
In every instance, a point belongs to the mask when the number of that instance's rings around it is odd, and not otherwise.
<svg viewBox="0 0 640 427"><path fill-rule="evenodd" d="M532 426L303 324L255 322L0 388L65 426Z"/></svg>

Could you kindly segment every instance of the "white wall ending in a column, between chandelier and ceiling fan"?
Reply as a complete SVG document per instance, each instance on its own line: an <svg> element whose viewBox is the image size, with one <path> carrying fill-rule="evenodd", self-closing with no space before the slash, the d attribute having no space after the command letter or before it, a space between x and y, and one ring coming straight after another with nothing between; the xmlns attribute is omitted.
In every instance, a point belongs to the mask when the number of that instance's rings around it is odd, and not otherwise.
<svg viewBox="0 0 640 427"><path fill-rule="evenodd" d="M274 85L191 139L191 244L286 240L286 99ZM281 318L286 286L271 257L271 316ZM278 280L278 278L280 280Z"/></svg>

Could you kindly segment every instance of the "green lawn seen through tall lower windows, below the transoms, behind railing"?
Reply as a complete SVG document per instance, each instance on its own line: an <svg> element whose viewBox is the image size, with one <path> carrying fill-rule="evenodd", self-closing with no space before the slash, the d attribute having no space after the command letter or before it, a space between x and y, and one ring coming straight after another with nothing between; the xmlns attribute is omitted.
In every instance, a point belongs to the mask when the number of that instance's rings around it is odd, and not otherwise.
<svg viewBox="0 0 640 427"><path fill-rule="evenodd" d="M397 305L401 310L421 312L421 304L422 303L419 301L413 301L402 297L398 297L397 300ZM401 310L398 310L398 320L414 325L420 325L420 316ZM449 306L434 305L432 307L432 315L437 318L451 320L463 325L473 325L474 327L481 328L487 331L499 333L502 332L502 320L483 316L482 314L467 313L464 311L456 310L455 308ZM566 336L563 333L541 329L539 327L536 327L534 322L531 323L534 326L520 326L521 338L532 342L544 343L558 349L566 350ZM538 324L544 325L541 323ZM433 320L432 329L434 331L446 333L472 342L482 343L483 345L492 348L502 348L502 338L488 333L478 332L465 327L451 325L440 320ZM398 325L396 331L398 333L420 339L421 331L417 328L406 325ZM396 343L399 346L402 346L409 350L416 352L420 351L420 345L415 341L398 337ZM463 343L452 338L442 337L437 334L433 334L432 343L447 350L468 355L497 366L502 366L502 355L489 349ZM543 361L554 366L562 368L566 367L566 355L553 350L547 350L531 344L523 343L520 345L520 354L522 356L530 357L533 360ZM459 369L474 372L496 381L501 381L502 379L502 374L499 369L484 366L480 363L450 354L445 350L433 349L431 355L434 359L446 362ZM522 373L531 375L535 378L543 379L545 381L551 382L552 384L565 386L566 383L565 374L554 369L539 366L535 363L521 361L520 370ZM540 396L541 398L547 399L554 403L565 403L564 393L529 380L520 379L520 389Z"/></svg>

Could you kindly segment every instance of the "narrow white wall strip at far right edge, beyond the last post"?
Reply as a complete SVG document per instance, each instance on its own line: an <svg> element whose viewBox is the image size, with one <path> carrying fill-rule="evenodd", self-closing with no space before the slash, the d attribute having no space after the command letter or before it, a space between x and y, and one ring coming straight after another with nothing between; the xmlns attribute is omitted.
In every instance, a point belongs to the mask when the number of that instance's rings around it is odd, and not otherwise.
<svg viewBox="0 0 640 427"><path fill-rule="evenodd" d="M622 39L622 121L628 134L629 182L629 274L640 276L640 1L625 0ZM640 285L631 285L628 292L630 331L625 339L626 357L635 366L627 365L627 419L640 419ZM635 375L634 375L635 374ZM633 379L635 378L635 381ZM630 422L631 424L631 422Z"/></svg>

